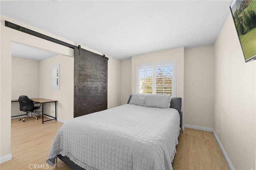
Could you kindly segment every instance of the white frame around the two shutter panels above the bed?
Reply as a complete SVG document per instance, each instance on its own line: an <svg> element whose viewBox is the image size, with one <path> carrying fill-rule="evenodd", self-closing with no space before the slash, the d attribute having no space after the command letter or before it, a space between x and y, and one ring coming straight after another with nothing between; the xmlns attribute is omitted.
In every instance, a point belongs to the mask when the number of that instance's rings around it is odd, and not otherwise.
<svg viewBox="0 0 256 170"><path fill-rule="evenodd" d="M163 67L172 65L172 97L176 97L176 60L160 61L154 63L137 64L136 65L136 93L140 93L139 85L139 69L153 68L152 76L152 94L156 94L156 67Z"/></svg>

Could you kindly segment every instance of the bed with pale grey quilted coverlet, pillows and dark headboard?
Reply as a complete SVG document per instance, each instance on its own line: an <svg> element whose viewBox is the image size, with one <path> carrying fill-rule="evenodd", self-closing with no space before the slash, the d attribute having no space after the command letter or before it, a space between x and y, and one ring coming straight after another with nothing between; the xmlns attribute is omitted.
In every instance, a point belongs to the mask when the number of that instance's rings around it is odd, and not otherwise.
<svg viewBox="0 0 256 170"><path fill-rule="evenodd" d="M128 104L64 123L46 163L58 157L75 170L172 170L181 98L161 96L132 94Z"/></svg>

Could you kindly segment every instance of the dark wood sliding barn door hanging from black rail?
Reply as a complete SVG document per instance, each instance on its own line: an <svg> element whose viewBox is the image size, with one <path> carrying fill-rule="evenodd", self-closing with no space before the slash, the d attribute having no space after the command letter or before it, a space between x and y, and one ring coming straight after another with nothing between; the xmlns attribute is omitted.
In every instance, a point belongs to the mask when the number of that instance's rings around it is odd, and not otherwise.
<svg viewBox="0 0 256 170"><path fill-rule="evenodd" d="M108 58L74 49L74 117L107 109Z"/></svg>

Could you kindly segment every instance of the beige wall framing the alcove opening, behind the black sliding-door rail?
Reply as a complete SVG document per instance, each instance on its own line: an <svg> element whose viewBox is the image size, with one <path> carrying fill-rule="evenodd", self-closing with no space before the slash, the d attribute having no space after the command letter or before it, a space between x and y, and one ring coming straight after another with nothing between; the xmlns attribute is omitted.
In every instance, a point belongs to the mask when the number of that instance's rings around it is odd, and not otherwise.
<svg viewBox="0 0 256 170"><path fill-rule="evenodd" d="M56 37L52 34L48 34L37 28L33 28L11 18L7 18L1 15L0 31L1 31L1 44L0 44L0 157L11 156L10 144L11 144L11 98L12 98L12 52L11 42L21 43L30 47L40 47L41 49L47 49L55 53L63 55L73 55L74 50L57 45L55 43L30 36L28 34L16 31L14 29L4 26L4 21L14 22L18 25L30 28L42 34L64 40ZM4 137L3 137L4 136Z"/></svg>

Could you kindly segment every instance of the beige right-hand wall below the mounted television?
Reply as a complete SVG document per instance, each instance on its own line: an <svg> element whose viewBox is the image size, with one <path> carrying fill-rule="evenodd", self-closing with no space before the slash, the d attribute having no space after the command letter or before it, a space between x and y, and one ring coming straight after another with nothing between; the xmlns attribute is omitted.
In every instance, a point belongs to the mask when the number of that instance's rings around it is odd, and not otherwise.
<svg viewBox="0 0 256 170"><path fill-rule="evenodd" d="M228 16L214 43L214 131L237 170L255 169L256 61L244 62Z"/></svg>

